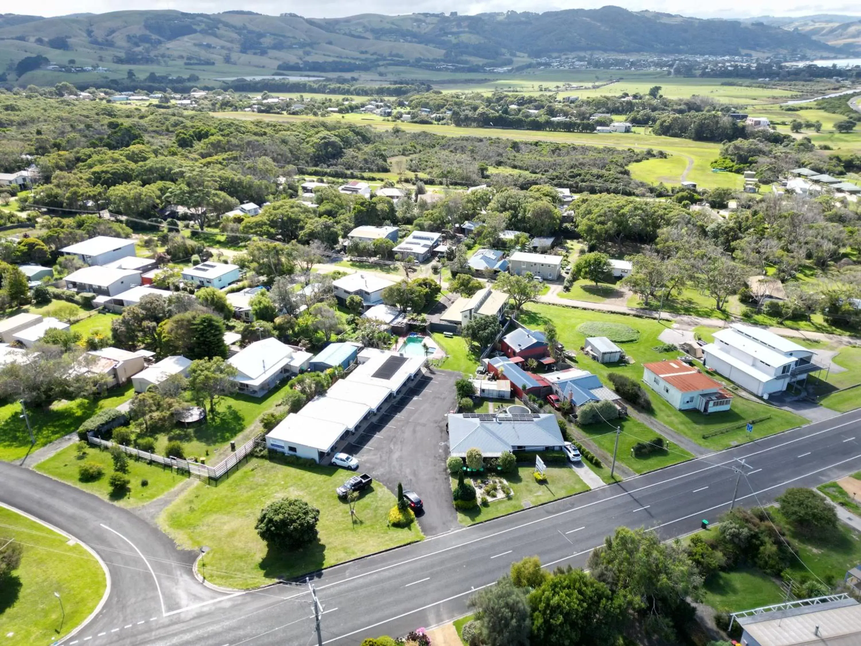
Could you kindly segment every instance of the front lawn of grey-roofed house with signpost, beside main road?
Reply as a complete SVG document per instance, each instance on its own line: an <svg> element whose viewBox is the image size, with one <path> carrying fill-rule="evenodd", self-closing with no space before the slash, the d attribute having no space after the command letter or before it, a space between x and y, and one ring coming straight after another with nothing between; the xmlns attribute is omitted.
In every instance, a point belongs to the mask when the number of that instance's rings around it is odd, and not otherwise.
<svg viewBox="0 0 861 646"><path fill-rule="evenodd" d="M566 464L548 464L547 482L538 484L532 475L534 464L517 465L517 474L506 474L505 480L511 485L511 498L495 500L488 506L478 506L468 511L458 511L457 519L461 525L474 525L483 520L505 516L506 513L517 512L527 506L541 505L544 502L565 498L581 491L588 491L589 486ZM457 486L457 478L451 479L451 487Z"/></svg>

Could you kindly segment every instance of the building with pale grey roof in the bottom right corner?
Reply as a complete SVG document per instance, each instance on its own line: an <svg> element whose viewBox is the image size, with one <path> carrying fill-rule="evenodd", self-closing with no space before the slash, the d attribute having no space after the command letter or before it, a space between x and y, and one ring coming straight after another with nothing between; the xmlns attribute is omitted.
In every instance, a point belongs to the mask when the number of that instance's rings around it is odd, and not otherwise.
<svg viewBox="0 0 861 646"><path fill-rule="evenodd" d="M861 643L861 605L848 594L794 599L734 612L744 646L854 646ZM732 625L732 624L730 624Z"/></svg>

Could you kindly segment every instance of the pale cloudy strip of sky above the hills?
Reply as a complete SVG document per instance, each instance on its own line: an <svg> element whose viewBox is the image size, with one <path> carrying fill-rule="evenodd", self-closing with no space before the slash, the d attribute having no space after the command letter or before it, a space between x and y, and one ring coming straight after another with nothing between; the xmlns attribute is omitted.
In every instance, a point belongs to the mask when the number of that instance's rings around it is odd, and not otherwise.
<svg viewBox="0 0 861 646"><path fill-rule="evenodd" d="M262 14L277 16L281 13L295 13L309 18L334 18L353 16L362 13L406 14L412 12L458 11L461 14L478 14L490 11L553 11L558 9L597 9L606 2L600 0L580 0L577 3L559 0L412 0L411 3L395 0L317 0L314 3L295 2L295 0L31 0L8 6L5 11L15 9L15 13L35 16L64 16L75 13L104 13L122 9L178 9L197 13L218 13L228 9L248 9ZM832 2L808 3L803 0L725 0L722 3L694 3L683 0L629 0L614 3L617 6L640 11L650 9L682 16L702 18L738 18L752 16L809 16L811 14L843 14L859 16L861 7L857 2L832 0ZM10 12L11 13L11 12Z"/></svg>

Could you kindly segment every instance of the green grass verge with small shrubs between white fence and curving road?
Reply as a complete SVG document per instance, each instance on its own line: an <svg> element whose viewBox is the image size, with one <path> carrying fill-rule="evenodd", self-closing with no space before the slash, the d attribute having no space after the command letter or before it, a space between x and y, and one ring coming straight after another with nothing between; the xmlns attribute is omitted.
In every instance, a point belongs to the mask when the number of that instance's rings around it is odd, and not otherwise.
<svg viewBox="0 0 861 646"><path fill-rule="evenodd" d="M102 465L104 475L94 482L82 482L77 478L77 468L85 462L94 462ZM188 479L186 475L179 475L170 469L163 469L156 464L136 462L131 457L128 461L127 478L131 481L126 495L117 496L111 494L108 486L108 477L114 471L114 463L107 450L100 450L95 446L87 449L87 455L83 460L77 459L77 446L72 444L47 460L36 465L35 469L45 475L50 475L57 480L84 489L90 494L96 494L99 498L110 500L120 506L133 507L144 505L150 500L155 500L162 494ZM146 479L148 485L143 487L141 481Z"/></svg>

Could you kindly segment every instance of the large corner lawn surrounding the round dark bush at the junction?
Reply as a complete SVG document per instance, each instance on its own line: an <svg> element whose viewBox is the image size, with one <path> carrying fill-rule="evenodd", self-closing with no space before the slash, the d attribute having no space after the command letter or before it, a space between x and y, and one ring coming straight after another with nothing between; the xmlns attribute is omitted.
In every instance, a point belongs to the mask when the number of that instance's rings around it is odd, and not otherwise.
<svg viewBox="0 0 861 646"><path fill-rule="evenodd" d="M235 588L303 575L423 537L416 524L408 529L387 526L395 500L379 483L356 503L354 525L349 506L335 495L348 477L341 469L252 459L218 487L195 483L158 522L181 547L199 550L208 545L202 562L208 581ZM302 550L269 549L254 530L263 506L286 496L306 500L320 511L319 540Z"/></svg>

